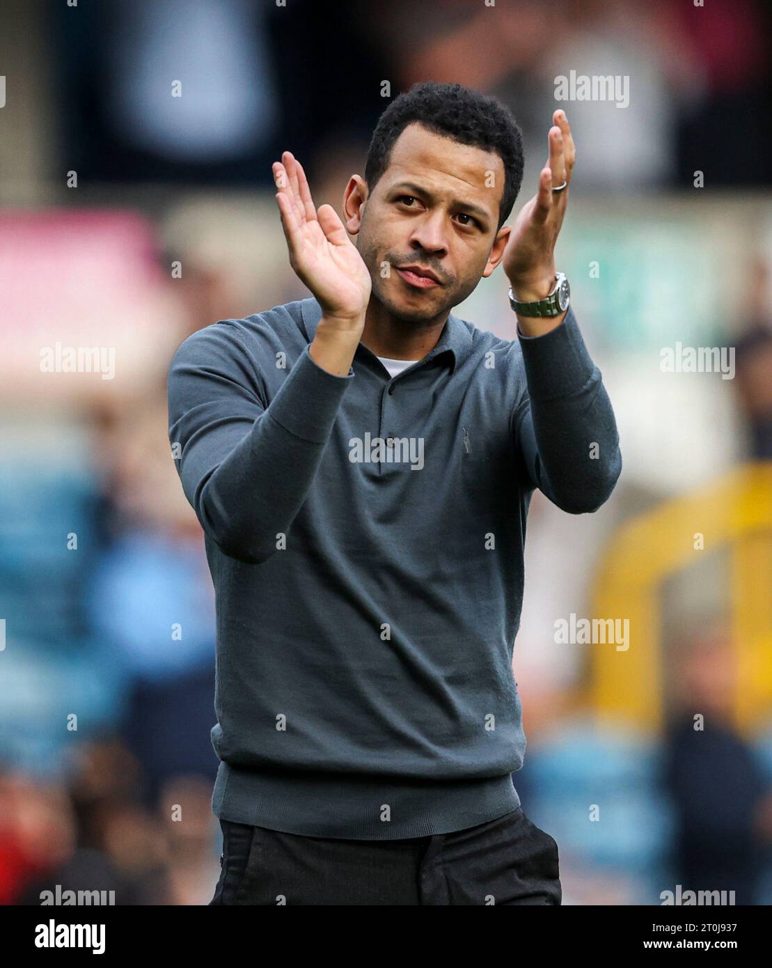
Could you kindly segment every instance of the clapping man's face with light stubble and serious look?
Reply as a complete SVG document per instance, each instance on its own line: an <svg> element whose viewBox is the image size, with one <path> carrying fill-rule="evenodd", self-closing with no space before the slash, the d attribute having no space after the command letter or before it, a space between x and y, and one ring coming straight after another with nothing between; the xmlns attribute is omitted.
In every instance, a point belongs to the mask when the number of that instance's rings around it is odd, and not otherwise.
<svg viewBox="0 0 772 968"><path fill-rule="evenodd" d="M414 322L462 302L503 255L509 229L496 230L503 191L497 154L408 125L371 194L354 176L344 197L346 228L370 269L373 297Z"/></svg>

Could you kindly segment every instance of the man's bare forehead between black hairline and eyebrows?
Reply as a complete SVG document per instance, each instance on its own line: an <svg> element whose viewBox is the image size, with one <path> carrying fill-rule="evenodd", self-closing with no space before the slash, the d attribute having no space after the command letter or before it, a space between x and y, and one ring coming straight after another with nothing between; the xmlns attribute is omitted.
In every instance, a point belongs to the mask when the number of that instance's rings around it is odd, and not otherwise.
<svg viewBox="0 0 772 968"><path fill-rule="evenodd" d="M492 178L491 178L492 173ZM504 191L504 163L493 151L460 144L420 124L409 124L392 145L386 187L409 177L435 191L463 194L495 212Z"/></svg>

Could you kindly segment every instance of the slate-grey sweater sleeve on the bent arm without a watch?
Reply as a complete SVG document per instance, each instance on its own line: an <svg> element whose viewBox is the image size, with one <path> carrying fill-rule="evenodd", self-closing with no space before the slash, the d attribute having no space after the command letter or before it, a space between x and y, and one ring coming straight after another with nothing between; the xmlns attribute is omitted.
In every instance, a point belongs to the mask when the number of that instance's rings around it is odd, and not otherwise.
<svg viewBox="0 0 772 968"><path fill-rule="evenodd" d="M168 373L169 441L185 495L204 532L232 558L276 550L306 499L353 370L338 377L306 347L270 404L267 367L235 325L198 330ZM176 445L176 446L175 446Z"/></svg>

